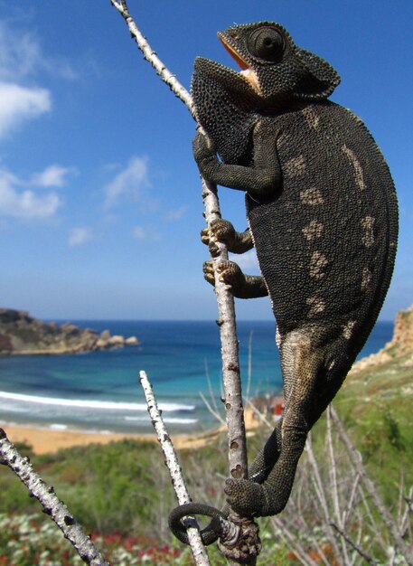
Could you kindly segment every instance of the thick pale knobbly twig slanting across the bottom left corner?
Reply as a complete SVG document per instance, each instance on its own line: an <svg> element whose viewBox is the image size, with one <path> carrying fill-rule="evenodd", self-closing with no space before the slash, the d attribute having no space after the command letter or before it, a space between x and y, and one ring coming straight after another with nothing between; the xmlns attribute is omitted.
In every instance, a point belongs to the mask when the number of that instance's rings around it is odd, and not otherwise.
<svg viewBox="0 0 413 566"><path fill-rule="evenodd" d="M23 458L19 454L3 429L0 429L0 456L1 463L10 467L31 495L41 503L44 513L51 516L64 537L73 544L82 561L90 566L109 566L67 506L54 493L52 486L48 486L33 470L29 458Z"/></svg>

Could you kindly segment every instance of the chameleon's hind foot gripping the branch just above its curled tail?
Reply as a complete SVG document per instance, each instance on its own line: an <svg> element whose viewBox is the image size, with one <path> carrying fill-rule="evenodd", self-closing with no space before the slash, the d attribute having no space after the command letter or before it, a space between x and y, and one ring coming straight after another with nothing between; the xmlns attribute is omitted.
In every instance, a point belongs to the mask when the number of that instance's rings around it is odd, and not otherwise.
<svg viewBox="0 0 413 566"><path fill-rule="evenodd" d="M227 503L243 517L260 517L266 501L262 486L248 479L227 479L224 488Z"/></svg>

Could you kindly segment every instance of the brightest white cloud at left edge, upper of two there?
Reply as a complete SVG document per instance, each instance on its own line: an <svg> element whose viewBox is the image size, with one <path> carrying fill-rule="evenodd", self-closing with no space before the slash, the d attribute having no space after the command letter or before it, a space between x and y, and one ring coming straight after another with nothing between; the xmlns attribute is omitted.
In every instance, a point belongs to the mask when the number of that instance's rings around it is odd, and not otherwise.
<svg viewBox="0 0 413 566"><path fill-rule="evenodd" d="M0 138L23 121L37 118L52 108L50 92L0 82Z"/></svg>

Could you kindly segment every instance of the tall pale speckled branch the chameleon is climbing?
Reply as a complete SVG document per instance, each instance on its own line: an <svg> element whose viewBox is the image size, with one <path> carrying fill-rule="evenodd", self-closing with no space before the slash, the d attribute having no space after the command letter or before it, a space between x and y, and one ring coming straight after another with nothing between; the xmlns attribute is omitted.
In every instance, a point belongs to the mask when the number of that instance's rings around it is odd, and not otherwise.
<svg viewBox="0 0 413 566"><path fill-rule="evenodd" d="M192 118L195 118L191 95L183 88L181 83L176 80L174 74L167 70L163 61L158 58L155 51L146 41L144 35L140 33L127 9L126 0L110 0L110 2L125 19L127 27L133 39L136 41L138 48L144 53L145 60L151 63L161 79L164 80L174 94L181 99L190 110ZM205 220L207 224L210 225L213 220L221 218L220 204L216 186L207 183L204 179L202 179L202 199L205 206ZM230 292L230 287L223 283L217 274L217 266L222 260L226 259L228 259L227 248L221 242L217 242L216 253L214 253L212 257L212 264L215 271L215 293L218 303L217 324L220 327L221 335L222 377L224 382L224 403L228 427L230 476L246 478L248 477L247 441L240 386L239 349L235 325L234 297ZM237 515L232 516L237 518ZM233 548L235 549L235 546ZM234 563L239 563L239 561Z"/></svg>

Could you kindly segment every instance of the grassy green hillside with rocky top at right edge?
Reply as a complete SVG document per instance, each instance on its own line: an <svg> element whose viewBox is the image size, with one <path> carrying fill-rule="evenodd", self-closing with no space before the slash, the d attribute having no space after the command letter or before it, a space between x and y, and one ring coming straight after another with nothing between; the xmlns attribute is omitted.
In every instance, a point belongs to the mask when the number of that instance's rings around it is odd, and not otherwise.
<svg viewBox="0 0 413 566"><path fill-rule="evenodd" d="M393 338L355 363L333 401L379 484L413 482L413 306L396 317ZM390 490L391 493L391 490Z"/></svg>

